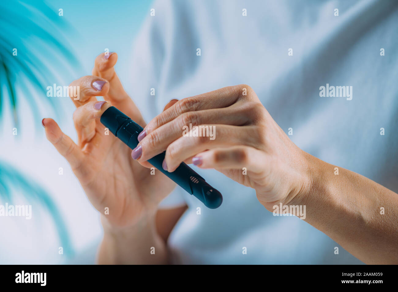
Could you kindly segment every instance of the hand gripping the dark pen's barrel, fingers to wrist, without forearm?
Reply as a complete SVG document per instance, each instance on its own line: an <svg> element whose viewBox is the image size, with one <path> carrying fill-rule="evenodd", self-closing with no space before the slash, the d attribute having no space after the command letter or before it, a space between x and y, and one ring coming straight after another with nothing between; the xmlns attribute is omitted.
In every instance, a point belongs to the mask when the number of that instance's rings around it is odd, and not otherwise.
<svg viewBox="0 0 398 292"><path fill-rule="evenodd" d="M190 125L193 131L184 135ZM195 126L204 136L195 135ZM254 188L269 211L274 202L287 204L310 190L308 154L287 137L248 85L181 99L150 121L139 140L132 154L140 163L166 150L163 165L170 172L181 162L215 168Z"/></svg>

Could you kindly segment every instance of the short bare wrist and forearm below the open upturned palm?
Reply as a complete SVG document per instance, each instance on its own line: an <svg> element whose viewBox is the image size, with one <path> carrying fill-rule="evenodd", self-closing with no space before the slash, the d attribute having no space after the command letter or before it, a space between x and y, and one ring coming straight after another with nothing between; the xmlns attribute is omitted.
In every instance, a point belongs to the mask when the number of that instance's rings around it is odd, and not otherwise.
<svg viewBox="0 0 398 292"><path fill-rule="evenodd" d="M98 252L99 264L165 264L166 243L156 232L155 216L129 228L113 228L102 218L104 237Z"/></svg>

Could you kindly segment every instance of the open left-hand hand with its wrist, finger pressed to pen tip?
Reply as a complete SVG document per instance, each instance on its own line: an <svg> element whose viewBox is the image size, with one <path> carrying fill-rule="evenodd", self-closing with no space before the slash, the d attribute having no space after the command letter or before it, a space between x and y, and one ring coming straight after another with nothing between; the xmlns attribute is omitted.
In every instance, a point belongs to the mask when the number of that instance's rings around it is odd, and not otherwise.
<svg viewBox="0 0 398 292"><path fill-rule="evenodd" d="M171 230L170 225L174 226L186 207L173 209L169 222L157 223L156 218L163 220L170 213L170 210L157 209L159 202L174 189L174 182L160 172L150 175L150 169L146 168L150 164L140 165L131 158L129 147L111 133L105 135L100 116L111 104L141 126L146 125L115 73L116 62L116 53L110 54L108 59L101 54L95 60L93 75L70 84L80 86L79 100L71 97L76 105L73 121L77 144L62 133L53 119L45 118L42 124L47 139L69 162L88 199L102 214L104 237L98 263L167 263L168 234L164 230ZM92 86L95 81L105 81L101 90ZM96 96L108 101L100 110L94 108L98 102ZM109 215L105 215L105 207L109 208ZM157 226L161 232L157 231ZM151 256L152 246L156 253ZM133 252L142 249L148 253Z"/></svg>

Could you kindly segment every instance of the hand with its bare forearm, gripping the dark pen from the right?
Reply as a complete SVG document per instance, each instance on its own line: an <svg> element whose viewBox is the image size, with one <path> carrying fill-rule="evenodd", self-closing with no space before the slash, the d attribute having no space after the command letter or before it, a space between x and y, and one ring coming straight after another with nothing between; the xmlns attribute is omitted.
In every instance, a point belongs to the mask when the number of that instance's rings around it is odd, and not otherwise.
<svg viewBox="0 0 398 292"><path fill-rule="evenodd" d="M213 137L183 136L189 124L214 126ZM300 150L248 85L181 99L150 121L141 139L133 151L140 163L166 150L169 171L182 161L215 168L254 188L269 211L280 203L306 206L300 218L361 261L397 263L398 195L344 168L335 175L336 166Z"/></svg>

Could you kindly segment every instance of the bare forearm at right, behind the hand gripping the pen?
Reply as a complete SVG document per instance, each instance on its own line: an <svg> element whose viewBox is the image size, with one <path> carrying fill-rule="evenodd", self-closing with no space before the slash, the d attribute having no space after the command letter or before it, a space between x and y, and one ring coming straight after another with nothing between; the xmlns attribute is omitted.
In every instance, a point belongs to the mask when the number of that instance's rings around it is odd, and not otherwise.
<svg viewBox="0 0 398 292"><path fill-rule="evenodd" d="M306 205L305 221L361 261L397 264L398 195L344 168L336 175L336 166L307 157L312 187L289 205Z"/></svg>

